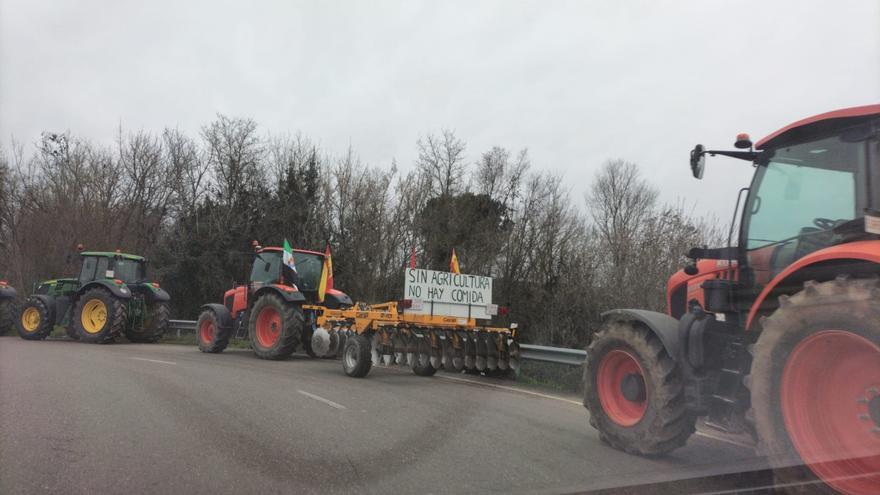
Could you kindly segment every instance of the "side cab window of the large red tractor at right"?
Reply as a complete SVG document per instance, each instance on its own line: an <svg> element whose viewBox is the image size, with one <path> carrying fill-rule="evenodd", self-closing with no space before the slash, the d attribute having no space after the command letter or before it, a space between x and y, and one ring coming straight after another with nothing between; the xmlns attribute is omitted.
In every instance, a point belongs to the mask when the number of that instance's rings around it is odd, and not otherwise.
<svg viewBox="0 0 880 495"><path fill-rule="evenodd" d="M745 246L754 268L775 275L835 242L832 229L865 208L864 143L839 137L775 150L758 167L747 204Z"/></svg>

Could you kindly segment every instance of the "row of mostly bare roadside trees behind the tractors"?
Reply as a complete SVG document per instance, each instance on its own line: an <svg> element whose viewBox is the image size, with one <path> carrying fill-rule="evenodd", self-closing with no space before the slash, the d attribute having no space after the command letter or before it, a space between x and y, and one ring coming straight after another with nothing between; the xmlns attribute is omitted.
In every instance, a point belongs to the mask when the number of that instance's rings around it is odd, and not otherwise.
<svg viewBox="0 0 880 495"><path fill-rule="evenodd" d="M454 247L463 272L494 277L495 302L510 308L499 323L517 322L523 342L583 348L608 308L663 310L683 254L720 236L714 219L661 202L624 160L563 177L533 167L525 148L470 150L450 130L414 149L404 173L223 115L198 135L13 142L0 150L0 277L24 296L74 275L78 243L118 248L148 257L172 318L195 319L246 279L254 239L329 242L335 286L369 302L401 297L413 247L420 267L440 270ZM585 197L570 193L579 180L591 181Z"/></svg>

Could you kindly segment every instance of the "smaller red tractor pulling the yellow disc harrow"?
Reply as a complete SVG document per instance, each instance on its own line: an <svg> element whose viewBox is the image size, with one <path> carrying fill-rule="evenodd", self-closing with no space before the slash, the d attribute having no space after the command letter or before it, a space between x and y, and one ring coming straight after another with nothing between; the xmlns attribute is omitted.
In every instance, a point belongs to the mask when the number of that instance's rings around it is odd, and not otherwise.
<svg viewBox="0 0 880 495"><path fill-rule="evenodd" d="M250 339L261 359L285 359L303 345L312 357L315 310L344 309L351 298L328 280L323 300L318 287L325 270L325 254L294 249L296 271L282 263L283 249L255 244L254 263L246 285L229 289L223 304L205 304L196 323L199 349L223 352L230 338Z"/></svg>

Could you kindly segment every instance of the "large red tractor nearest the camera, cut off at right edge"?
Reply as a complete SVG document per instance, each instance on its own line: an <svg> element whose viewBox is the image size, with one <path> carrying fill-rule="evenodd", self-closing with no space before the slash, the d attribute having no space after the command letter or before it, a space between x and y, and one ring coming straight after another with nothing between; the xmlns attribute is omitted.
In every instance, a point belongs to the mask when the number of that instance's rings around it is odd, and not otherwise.
<svg viewBox="0 0 880 495"><path fill-rule="evenodd" d="M650 455L705 417L751 434L780 481L880 493L880 105L734 146L697 145L691 169L701 178L707 154L754 167L738 242L688 253L667 314L605 313L584 370L590 424Z"/></svg>

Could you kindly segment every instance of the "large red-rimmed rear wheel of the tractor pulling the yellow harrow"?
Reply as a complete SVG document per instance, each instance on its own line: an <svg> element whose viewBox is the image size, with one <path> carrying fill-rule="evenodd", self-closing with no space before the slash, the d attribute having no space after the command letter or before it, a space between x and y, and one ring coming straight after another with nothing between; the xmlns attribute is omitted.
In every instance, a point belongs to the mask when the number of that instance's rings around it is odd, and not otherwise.
<svg viewBox="0 0 880 495"><path fill-rule="evenodd" d="M261 296L248 322L254 354L260 359L287 359L299 345L304 324L299 304L285 302L272 293Z"/></svg>

